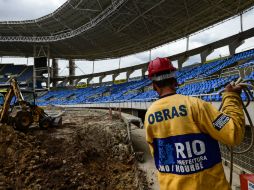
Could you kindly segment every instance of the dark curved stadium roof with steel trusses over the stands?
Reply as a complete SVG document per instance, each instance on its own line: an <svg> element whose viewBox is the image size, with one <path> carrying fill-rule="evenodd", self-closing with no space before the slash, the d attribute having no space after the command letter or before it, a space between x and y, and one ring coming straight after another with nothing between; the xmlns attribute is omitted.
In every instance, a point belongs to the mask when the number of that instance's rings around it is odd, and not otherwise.
<svg viewBox="0 0 254 190"><path fill-rule="evenodd" d="M0 22L0 56L103 59L174 41L237 15L254 0L68 0L35 20Z"/></svg>

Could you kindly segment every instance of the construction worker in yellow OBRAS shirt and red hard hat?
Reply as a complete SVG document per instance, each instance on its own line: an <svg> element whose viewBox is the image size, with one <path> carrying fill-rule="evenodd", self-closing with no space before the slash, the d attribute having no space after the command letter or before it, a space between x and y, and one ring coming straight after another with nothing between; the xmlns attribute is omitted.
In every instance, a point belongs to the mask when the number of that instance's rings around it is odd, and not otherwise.
<svg viewBox="0 0 254 190"><path fill-rule="evenodd" d="M176 94L176 69L167 58L148 66L159 99L145 117L146 140L161 190L229 190L218 141L234 146L244 137L241 87L228 85L222 112L201 99Z"/></svg>

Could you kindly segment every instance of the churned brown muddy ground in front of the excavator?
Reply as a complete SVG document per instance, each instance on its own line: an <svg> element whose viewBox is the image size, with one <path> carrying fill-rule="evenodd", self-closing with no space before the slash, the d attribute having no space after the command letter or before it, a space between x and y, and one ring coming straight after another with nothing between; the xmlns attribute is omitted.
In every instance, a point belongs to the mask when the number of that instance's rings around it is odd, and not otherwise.
<svg viewBox="0 0 254 190"><path fill-rule="evenodd" d="M69 111L63 126L0 126L0 189L148 189L125 124L99 111Z"/></svg>

